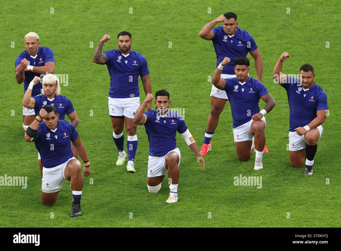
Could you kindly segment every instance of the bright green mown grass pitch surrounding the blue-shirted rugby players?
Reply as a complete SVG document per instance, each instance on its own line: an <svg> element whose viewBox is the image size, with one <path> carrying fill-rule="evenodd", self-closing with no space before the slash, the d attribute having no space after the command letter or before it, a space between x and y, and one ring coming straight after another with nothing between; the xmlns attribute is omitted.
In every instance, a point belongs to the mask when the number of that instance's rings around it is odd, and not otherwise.
<svg viewBox="0 0 341 251"><path fill-rule="evenodd" d="M133 14L129 14L130 7ZM287 8L290 14L286 14ZM117 48L115 38L120 31L131 32L133 50L148 61L152 92L168 90L171 107L185 109L185 121L201 148L210 111L211 83L207 79L215 69L216 55L212 42L201 39L198 32L228 11L238 15L239 27L255 39L264 63L262 82L276 100L276 107L266 115L270 153L264 154L264 169L260 171L253 170L254 155L246 163L238 161L227 103L212 139L213 150L205 156L205 171L178 135L182 155L179 201L169 205L165 203L167 178L158 194L147 190L149 144L143 126L137 131L136 173L115 165L118 154L107 108L110 78L106 66L92 61L92 54L105 33L112 39L103 50L110 50ZM27 176L28 186L0 186L0 227L340 227L340 15L336 0L304 0L299 4L269 0L36 1L31 5L4 1L0 9L0 176ZM69 217L72 198L67 181L53 207L41 203L37 151L34 143L25 141L22 131L24 86L16 83L14 75L15 59L25 50L24 36L30 31L39 34L41 46L53 49L55 74L69 77L61 94L71 99L78 113L77 130L92 171L85 177L81 217ZM303 176L303 168L290 166L286 150L287 96L271 76L284 51L291 58L283 71L296 74L301 65L312 64L315 82L328 97L330 116L323 124L312 177ZM250 55L248 58L250 76L256 77L254 61ZM145 94L139 83L143 101ZM264 107L262 101L260 107ZM262 176L262 189L235 186L234 177L240 174Z"/></svg>

